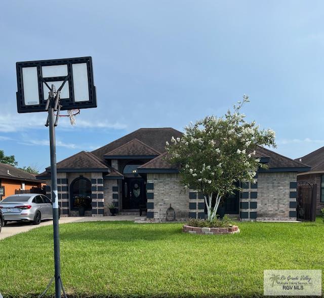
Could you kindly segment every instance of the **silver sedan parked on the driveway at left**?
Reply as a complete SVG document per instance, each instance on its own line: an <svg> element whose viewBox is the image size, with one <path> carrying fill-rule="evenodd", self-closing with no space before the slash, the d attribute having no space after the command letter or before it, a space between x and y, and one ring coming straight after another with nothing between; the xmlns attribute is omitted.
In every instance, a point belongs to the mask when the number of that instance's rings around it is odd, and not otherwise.
<svg viewBox="0 0 324 298"><path fill-rule="evenodd" d="M39 225L43 219L53 219L52 201L41 194L20 194L0 201L5 224L7 221L32 221Z"/></svg>

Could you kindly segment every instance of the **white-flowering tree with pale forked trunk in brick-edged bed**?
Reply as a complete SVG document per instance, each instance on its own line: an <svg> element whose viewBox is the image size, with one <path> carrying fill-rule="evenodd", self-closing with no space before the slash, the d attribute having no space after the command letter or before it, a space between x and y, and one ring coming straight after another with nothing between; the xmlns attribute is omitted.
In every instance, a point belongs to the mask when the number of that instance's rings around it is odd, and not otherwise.
<svg viewBox="0 0 324 298"><path fill-rule="evenodd" d="M172 137L171 143L167 142L168 159L180 165L184 188L204 194L208 220L216 216L225 195L240 190L237 182L254 182L257 169L266 167L255 156L258 146L275 147L274 131L246 122L246 116L240 113L248 101L244 95L233 111L228 110L221 118L211 116L191 123L181 138Z"/></svg>

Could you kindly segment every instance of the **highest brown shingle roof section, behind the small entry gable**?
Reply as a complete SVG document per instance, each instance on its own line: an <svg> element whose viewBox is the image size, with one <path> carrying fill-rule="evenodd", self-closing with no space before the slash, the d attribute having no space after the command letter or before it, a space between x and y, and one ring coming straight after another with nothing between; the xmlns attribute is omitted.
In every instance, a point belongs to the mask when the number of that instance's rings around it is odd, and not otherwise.
<svg viewBox="0 0 324 298"><path fill-rule="evenodd" d="M150 146L154 150L164 153L166 152L166 141L170 141L171 137L181 137L182 132L171 128L140 128L135 130L107 145L104 145L97 150L92 151L91 153L97 156L100 159L104 159L103 156L106 153L109 153L121 145L126 144L127 142L138 139L141 142L145 143L147 146Z"/></svg>

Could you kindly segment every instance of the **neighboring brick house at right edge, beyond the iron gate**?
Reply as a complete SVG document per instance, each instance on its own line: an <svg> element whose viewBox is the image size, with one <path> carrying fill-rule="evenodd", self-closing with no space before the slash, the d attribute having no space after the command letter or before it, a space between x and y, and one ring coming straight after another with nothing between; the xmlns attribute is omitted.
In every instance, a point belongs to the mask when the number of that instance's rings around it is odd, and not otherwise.
<svg viewBox="0 0 324 298"><path fill-rule="evenodd" d="M296 160L311 166L311 170L298 174L297 181L316 184L316 213L320 214L324 208L324 147Z"/></svg>

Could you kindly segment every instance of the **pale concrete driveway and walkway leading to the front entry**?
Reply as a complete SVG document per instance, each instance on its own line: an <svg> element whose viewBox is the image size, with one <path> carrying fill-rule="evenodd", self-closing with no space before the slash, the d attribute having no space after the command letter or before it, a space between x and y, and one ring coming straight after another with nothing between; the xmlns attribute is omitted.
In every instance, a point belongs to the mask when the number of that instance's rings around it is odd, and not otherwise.
<svg viewBox="0 0 324 298"><path fill-rule="evenodd" d="M61 217L60 224L69 224L70 222L85 222L85 221L117 221L117 220L135 220L135 215L116 215L116 216L83 216L83 217ZM28 232L29 230L53 225L52 220L42 221L41 224L34 226L29 222L9 221L8 225L2 227L0 240L19 234Z"/></svg>

